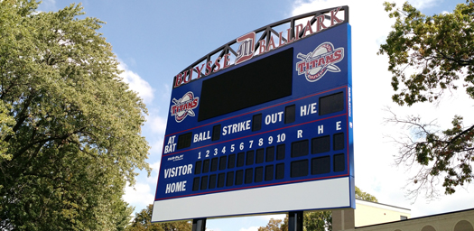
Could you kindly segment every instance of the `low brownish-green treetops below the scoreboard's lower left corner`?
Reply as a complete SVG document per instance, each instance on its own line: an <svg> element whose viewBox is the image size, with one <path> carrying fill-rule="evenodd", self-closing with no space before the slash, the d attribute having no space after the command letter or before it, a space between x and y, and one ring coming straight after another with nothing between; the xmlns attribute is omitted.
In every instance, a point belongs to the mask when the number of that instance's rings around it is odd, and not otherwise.
<svg viewBox="0 0 474 231"><path fill-rule="evenodd" d="M152 223L153 205L150 204L135 213L135 218L125 231L191 231L192 224L188 221L178 221L170 223Z"/></svg>

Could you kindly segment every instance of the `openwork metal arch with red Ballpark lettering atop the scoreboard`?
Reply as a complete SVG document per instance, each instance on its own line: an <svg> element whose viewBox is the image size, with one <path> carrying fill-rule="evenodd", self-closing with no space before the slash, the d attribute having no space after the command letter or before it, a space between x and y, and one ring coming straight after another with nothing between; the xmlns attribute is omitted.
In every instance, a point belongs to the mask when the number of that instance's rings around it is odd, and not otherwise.
<svg viewBox="0 0 474 231"><path fill-rule="evenodd" d="M173 88L181 87L195 79L208 77L219 70L228 69L257 55L274 51L292 42L298 42L302 38L323 32L342 23L349 23L348 6L302 14L269 24L228 42L192 63L190 67L183 69L174 77ZM276 32L275 29L283 24L289 24L288 28ZM260 35L258 40L256 39L257 34ZM236 44L238 47L234 49ZM211 59L217 53L219 53L218 57L214 60Z"/></svg>

